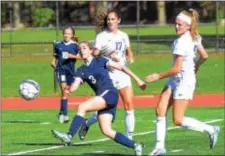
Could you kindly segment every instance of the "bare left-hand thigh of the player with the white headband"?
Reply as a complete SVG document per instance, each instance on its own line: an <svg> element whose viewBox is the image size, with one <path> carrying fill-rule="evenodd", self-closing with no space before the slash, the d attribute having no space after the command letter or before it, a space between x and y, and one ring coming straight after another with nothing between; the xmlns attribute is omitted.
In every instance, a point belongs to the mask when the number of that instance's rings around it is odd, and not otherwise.
<svg viewBox="0 0 225 156"><path fill-rule="evenodd" d="M158 116L165 116L167 109L172 104L172 89L168 86L165 86L160 93L160 97L156 106L156 113Z"/></svg>

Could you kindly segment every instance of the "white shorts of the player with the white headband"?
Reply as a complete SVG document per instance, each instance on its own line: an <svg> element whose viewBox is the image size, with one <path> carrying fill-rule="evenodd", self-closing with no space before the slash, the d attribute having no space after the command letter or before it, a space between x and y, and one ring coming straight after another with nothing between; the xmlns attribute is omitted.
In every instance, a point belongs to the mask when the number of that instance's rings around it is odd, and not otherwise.
<svg viewBox="0 0 225 156"><path fill-rule="evenodd" d="M192 100L195 90L195 81L187 80L177 82L170 78L167 82L167 87L172 89L173 99L177 100Z"/></svg>

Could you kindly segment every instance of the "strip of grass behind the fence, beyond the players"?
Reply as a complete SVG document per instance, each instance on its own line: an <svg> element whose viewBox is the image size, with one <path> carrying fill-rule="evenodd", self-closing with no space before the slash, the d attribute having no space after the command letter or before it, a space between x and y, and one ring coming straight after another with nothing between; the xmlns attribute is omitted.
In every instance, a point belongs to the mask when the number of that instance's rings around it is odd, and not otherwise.
<svg viewBox="0 0 225 156"><path fill-rule="evenodd" d="M131 40L131 48L136 51L137 48L137 30L135 28L122 28L125 31ZM215 25L200 25L199 27L200 34L203 36L216 35ZM224 27L220 26L218 29L219 34L224 34ZM31 30L23 29L16 30L13 32L2 31L1 40L3 43L10 42L10 33L12 34L12 42L53 42L54 40L62 39L62 32L59 31L58 39L56 38L55 30ZM149 38L175 38L175 31L173 26L151 26L151 27L142 27L139 30L140 39L146 40ZM95 30L94 29L77 29L76 35L79 40L94 40ZM22 36L22 37L21 37ZM139 49L145 52L155 52L157 50L170 51L171 42L142 42L139 45ZM215 45L205 43L206 48L215 49ZM23 44L23 45L2 45L2 54L4 56L10 55L10 48L12 49L11 55L19 54L32 54L32 53L42 53L42 54L51 54L52 53L52 44Z"/></svg>

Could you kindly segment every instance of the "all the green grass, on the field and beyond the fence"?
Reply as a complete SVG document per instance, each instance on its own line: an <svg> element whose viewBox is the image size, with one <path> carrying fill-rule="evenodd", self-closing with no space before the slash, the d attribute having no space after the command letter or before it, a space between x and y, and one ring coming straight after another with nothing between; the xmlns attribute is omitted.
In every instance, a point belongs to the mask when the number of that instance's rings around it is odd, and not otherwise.
<svg viewBox="0 0 225 156"><path fill-rule="evenodd" d="M131 28L124 29L131 37L135 38L136 30ZM220 34L224 33L224 28L219 28ZM149 27L140 29L143 38L149 35L173 35L173 27ZM216 29L213 26L201 26L202 35L215 35ZM21 37L23 36L23 37ZM78 29L77 36L80 40L92 40L95 33L91 29ZM14 42L28 41L50 41L55 40L54 30L20 30L13 32ZM61 33L60 33L60 37ZM9 41L9 31L3 31L1 36L2 42ZM135 44L132 44L135 48ZM146 44L141 45L142 49L169 49L170 45ZM20 53L52 53L52 45L14 45L13 54ZM9 47L2 47L2 54L9 53ZM34 79L41 87L40 96L59 96L53 92L53 70L50 67L52 57L50 56L24 56L2 58L1 62L1 95L2 97L18 97L19 84L24 79ZM172 64L171 54L140 54L135 57L136 62L130 65L130 68L141 78L147 74L169 69ZM81 62L78 62L80 66ZM224 53L209 53L208 61L201 67L197 78L197 94L204 93L224 93ZM167 80L161 80L148 85L146 91L141 91L135 84L135 95L158 95ZM85 84L72 96L93 95L91 89ZM134 140L143 142L146 145L144 154L148 154L154 147L154 119L155 113L153 108L138 108L136 112L136 136ZM27 155L132 155L133 150L120 146L111 140L98 142L96 140L104 138L100 133L98 125L94 125L85 141L93 141L83 145L74 145L69 147L61 146L60 142L52 137L50 130L55 128L66 132L69 124L59 124L57 121L57 110L19 110L1 112L1 154L10 154L14 152L25 151ZM69 115L75 114L70 110ZM187 116L193 116L201 121L212 121L213 125L221 126L221 134L218 144L214 150L208 147L208 136L173 128L171 111L169 112L169 130L167 135L168 155L224 155L224 107L214 108L189 108ZM216 122L217 121L217 122ZM125 132L124 111L118 109L117 116L113 127L116 130ZM172 127L172 129L171 129ZM147 134L140 134L148 132ZM74 143L80 143L78 137L74 138ZM55 149L47 150L46 148ZM33 150L44 149L42 151ZM28 152L27 151L33 151ZM102 153L97 153L102 152Z"/></svg>

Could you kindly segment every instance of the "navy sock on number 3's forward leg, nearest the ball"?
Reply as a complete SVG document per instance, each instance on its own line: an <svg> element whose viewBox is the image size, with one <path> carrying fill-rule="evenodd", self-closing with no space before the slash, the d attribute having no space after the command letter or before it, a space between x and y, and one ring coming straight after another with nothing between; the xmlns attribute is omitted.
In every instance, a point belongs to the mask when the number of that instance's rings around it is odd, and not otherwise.
<svg viewBox="0 0 225 156"><path fill-rule="evenodd" d="M76 132L79 130L83 122L84 122L84 118L82 116L76 115L73 118L73 121L70 125L68 134L73 137L76 134Z"/></svg>

